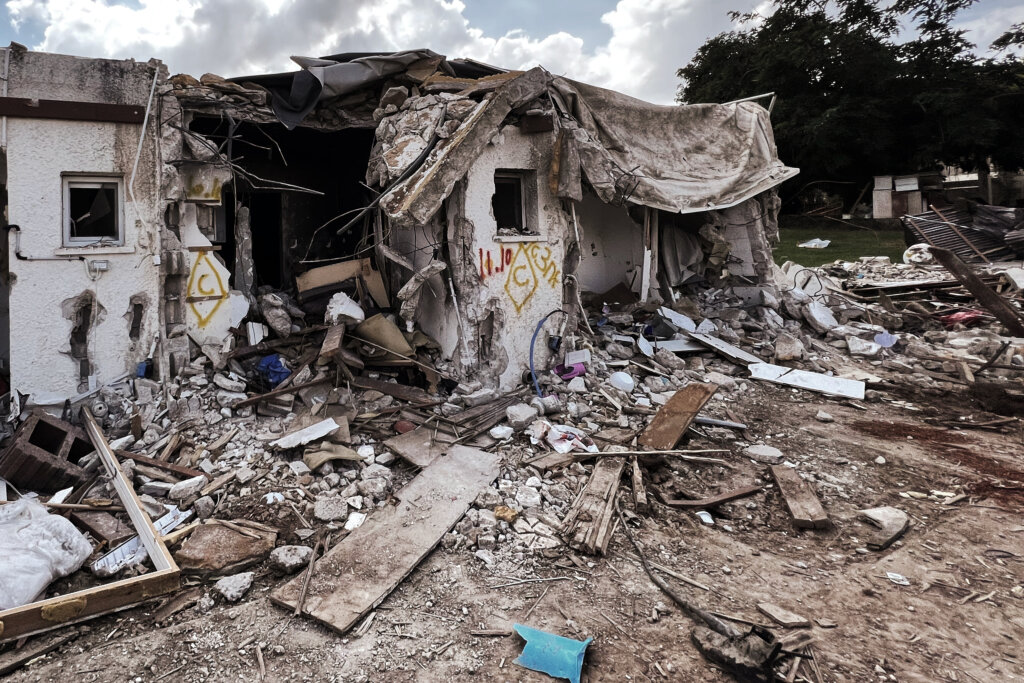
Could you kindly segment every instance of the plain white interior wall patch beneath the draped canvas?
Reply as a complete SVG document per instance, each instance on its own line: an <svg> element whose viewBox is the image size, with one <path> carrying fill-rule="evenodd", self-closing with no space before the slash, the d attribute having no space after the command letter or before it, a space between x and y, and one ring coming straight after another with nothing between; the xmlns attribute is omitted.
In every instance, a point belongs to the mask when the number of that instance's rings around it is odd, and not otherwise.
<svg viewBox="0 0 1024 683"><path fill-rule="evenodd" d="M588 292L607 292L618 283L640 291L643 269L643 226L623 207L609 206L584 195L577 205L582 244L577 269L580 286ZM635 273L635 278L633 276Z"/></svg>

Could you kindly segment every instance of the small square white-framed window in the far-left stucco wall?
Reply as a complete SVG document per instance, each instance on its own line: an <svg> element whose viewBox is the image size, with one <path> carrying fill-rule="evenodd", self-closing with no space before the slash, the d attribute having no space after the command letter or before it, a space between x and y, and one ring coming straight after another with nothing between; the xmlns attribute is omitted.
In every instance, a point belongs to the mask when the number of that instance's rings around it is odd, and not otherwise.
<svg viewBox="0 0 1024 683"><path fill-rule="evenodd" d="M66 176L65 246L123 245L122 195L121 178Z"/></svg>

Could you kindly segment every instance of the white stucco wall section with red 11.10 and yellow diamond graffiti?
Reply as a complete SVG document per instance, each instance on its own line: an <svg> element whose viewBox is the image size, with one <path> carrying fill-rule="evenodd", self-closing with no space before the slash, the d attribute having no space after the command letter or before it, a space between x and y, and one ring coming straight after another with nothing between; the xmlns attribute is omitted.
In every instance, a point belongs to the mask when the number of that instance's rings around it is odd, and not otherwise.
<svg viewBox="0 0 1024 683"><path fill-rule="evenodd" d="M474 327L489 311L499 311L490 346L492 355L504 361L495 366L502 390L520 384L522 372L528 367L529 342L537 324L562 306L565 236L571 228L548 184L552 143L553 133L524 135L508 126L466 176L464 213L472 223L472 232L458 236L457 240L467 256L467 268L471 259L475 263L472 278L477 287L474 296L460 304L464 318ZM536 171L538 215L527 220L527 225L536 225L540 238L498 238L490 207L498 169ZM467 282L470 274L467 272ZM547 329L557 331L561 321L560 315L553 316ZM548 357L544 335L538 340L536 357L538 364L546 362Z"/></svg>

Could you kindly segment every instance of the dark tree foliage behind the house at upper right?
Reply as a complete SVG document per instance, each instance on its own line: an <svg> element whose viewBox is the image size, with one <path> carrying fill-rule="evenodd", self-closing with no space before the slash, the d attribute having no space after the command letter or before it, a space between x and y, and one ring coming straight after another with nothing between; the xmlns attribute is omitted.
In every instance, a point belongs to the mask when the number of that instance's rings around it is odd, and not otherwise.
<svg viewBox="0 0 1024 683"><path fill-rule="evenodd" d="M1024 63L975 54L953 25L975 1L775 0L767 16L733 13L737 28L679 70L678 99L775 92L779 155L803 182L863 184L986 158L1024 168ZM1019 45L1022 34L1009 27L992 48Z"/></svg>

